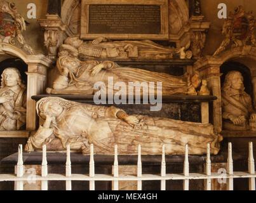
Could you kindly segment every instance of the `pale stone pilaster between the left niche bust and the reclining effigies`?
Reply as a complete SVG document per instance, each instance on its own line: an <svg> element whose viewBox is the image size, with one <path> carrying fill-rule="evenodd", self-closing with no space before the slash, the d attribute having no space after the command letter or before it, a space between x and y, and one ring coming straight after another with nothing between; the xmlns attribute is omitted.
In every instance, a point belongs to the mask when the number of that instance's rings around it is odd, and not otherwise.
<svg viewBox="0 0 256 203"><path fill-rule="evenodd" d="M29 63L27 74L27 130L36 130L36 101L31 96L44 93L46 89L46 67L38 63Z"/></svg>

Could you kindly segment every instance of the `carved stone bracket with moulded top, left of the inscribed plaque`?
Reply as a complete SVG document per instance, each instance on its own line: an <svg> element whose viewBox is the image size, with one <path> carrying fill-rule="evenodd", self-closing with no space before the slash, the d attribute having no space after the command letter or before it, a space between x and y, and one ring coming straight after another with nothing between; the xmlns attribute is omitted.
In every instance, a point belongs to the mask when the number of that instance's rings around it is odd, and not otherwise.
<svg viewBox="0 0 256 203"><path fill-rule="evenodd" d="M70 32L58 15L46 15L46 19L38 20L44 29L44 46L48 50L48 58L57 57L58 47L63 43Z"/></svg>

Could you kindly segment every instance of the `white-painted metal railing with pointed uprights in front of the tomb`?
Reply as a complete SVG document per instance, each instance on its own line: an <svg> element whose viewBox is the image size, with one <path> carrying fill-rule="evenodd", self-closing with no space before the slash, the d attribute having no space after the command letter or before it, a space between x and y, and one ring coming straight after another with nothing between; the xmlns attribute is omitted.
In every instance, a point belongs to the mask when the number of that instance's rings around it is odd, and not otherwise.
<svg viewBox="0 0 256 203"><path fill-rule="evenodd" d="M183 180L184 190L189 190L189 180L205 180L205 190L211 190L213 179L227 178L227 189L233 190L234 178L248 178L249 190L255 190L255 164L253 159L253 144L249 143L248 172L234 172L232 161L232 144L228 144L227 174L211 173L210 144L207 145L206 171L205 173L189 173L189 147L185 146L184 173L166 174L165 145L161 161L161 174L142 174L141 147L138 145L138 165L137 176L119 175L118 172L118 146L114 148L114 175L95 174L93 145L90 148L90 173L72 174L71 173L71 152L67 145L67 161L65 174L48 174L48 163L46 159L46 146L43 146L43 160L41 166L41 176L35 175L35 181L41 181L41 190L48 190L48 181L65 181L66 190L72 190L72 181L89 181L90 190L95 190L95 181L112 181L114 190L119 189L119 181L137 181L137 190L142 190L142 181L161 181L161 190L166 190L167 180ZM28 180L30 174L24 173L24 162L22 156L22 145L18 147L17 175L0 174L0 181L15 181L15 190L24 190L24 182Z"/></svg>

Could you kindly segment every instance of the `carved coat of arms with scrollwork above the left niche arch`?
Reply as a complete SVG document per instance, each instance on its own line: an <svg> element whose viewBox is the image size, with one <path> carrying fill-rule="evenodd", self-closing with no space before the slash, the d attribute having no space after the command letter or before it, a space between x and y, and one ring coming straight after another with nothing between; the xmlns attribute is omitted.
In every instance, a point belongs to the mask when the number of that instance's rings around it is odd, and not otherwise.
<svg viewBox="0 0 256 203"><path fill-rule="evenodd" d="M15 39L30 55L34 54L32 48L25 43L22 32L26 30L24 18L18 13L14 3L0 1L0 42L15 44Z"/></svg>

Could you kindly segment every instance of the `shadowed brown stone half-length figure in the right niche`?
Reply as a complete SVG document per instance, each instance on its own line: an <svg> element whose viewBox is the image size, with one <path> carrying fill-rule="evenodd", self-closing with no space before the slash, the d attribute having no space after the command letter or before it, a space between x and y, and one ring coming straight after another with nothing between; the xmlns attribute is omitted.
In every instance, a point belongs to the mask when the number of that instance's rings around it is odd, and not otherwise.
<svg viewBox="0 0 256 203"><path fill-rule="evenodd" d="M245 92L243 75L238 71L228 72L225 77L222 88L222 117L223 128L226 130L253 130L256 124L252 99Z"/></svg>

